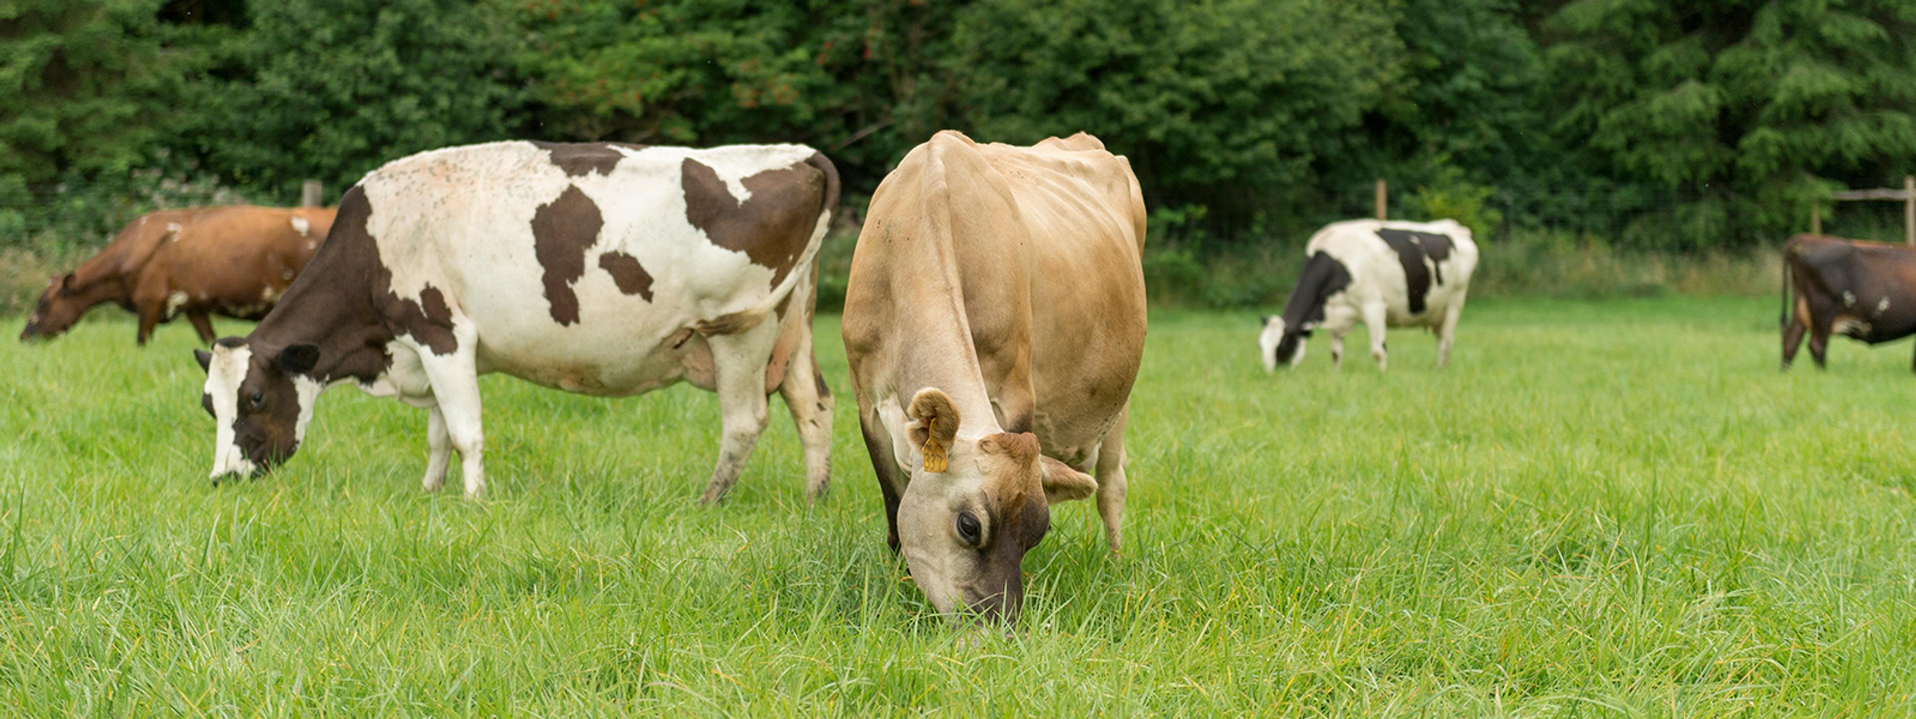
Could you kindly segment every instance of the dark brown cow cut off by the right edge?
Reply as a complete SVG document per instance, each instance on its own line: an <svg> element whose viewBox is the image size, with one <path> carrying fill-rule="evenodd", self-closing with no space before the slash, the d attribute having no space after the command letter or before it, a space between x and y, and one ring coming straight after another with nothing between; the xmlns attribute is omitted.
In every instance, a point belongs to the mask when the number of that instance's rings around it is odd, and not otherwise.
<svg viewBox="0 0 1916 719"><path fill-rule="evenodd" d="M1786 370L1805 332L1818 368L1834 334L1872 345L1916 334L1916 247L1818 234L1790 238L1780 324Z"/></svg>

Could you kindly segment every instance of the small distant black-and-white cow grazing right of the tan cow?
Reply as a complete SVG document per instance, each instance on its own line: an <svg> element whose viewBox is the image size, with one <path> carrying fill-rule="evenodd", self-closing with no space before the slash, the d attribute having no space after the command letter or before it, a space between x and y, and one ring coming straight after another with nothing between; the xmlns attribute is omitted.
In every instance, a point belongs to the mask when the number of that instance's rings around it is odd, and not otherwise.
<svg viewBox="0 0 1916 719"><path fill-rule="evenodd" d="M1257 347L1265 370L1305 359L1311 332L1330 332L1332 364L1343 366L1343 336L1358 322L1370 334L1370 357L1387 368L1385 326L1424 326L1437 334L1437 366L1450 360L1456 318L1464 313L1477 244L1456 220L1332 222L1305 245L1303 274L1284 314L1266 316Z"/></svg>

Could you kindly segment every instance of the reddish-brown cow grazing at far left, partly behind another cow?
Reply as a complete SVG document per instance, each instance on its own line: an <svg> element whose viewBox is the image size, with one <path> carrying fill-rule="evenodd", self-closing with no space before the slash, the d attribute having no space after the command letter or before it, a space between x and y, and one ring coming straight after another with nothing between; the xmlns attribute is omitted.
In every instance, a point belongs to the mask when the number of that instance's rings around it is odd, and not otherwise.
<svg viewBox="0 0 1916 719"><path fill-rule="evenodd" d="M94 305L140 314L140 345L184 313L213 341L209 314L257 320L326 242L333 207L192 207L142 215L98 255L54 278L19 339L57 337Z"/></svg>

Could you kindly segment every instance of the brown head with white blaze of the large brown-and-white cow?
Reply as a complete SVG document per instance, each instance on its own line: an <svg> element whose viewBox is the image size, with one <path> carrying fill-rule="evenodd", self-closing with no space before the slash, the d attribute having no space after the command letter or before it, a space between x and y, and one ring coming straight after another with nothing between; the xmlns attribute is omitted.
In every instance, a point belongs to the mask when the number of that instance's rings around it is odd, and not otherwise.
<svg viewBox="0 0 1916 719"><path fill-rule="evenodd" d="M291 458L324 389L307 376L320 360L320 347L253 347L241 337L224 337L211 353L195 349L194 359L207 370L199 403L218 429L209 475L218 481L261 474Z"/></svg>

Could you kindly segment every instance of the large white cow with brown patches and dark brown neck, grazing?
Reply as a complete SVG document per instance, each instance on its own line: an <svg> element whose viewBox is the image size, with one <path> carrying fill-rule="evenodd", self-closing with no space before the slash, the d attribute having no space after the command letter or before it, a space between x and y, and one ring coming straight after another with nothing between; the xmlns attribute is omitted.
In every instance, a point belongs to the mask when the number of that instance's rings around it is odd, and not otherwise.
<svg viewBox="0 0 1916 719"><path fill-rule="evenodd" d="M809 495L826 491L832 395L812 362L814 255L837 171L805 146L494 142L387 163L347 190L326 247L247 337L197 353L213 477L272 468L320 391L427 408L425 489L460 452L481 497L479 376L627 397L717 389L705 500L786 399Z"/></svg>

